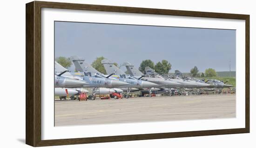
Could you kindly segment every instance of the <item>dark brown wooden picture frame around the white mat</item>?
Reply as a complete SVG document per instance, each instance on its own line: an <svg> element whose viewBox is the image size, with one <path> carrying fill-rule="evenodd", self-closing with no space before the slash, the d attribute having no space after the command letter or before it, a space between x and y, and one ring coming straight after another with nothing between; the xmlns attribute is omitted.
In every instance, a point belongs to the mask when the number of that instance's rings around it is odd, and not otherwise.
<svg viewBox="0 0 256 148"><path fill-rule="evenodd" d="M245 128L41 140L41 8L75 9L121 13L145 13L245 20ZM34 147L39 147L205 135L225 135L238 133L249 133L249 15L138 7L101 6L45 1L33 1L26 4L26 144Z"/></svg>

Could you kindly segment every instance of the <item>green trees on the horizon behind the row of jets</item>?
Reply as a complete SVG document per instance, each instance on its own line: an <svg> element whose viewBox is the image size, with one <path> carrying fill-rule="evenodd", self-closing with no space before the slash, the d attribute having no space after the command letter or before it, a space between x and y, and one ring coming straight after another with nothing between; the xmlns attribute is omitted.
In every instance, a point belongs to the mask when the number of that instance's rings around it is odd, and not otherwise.
<svg viewBox="0 0 256 148"><path fill-rule="evenodd" d="M106 70L103 64L101 64L101 60L103 59L105 59L103 56L97 57L96 60L94 60L91 65L102 74L106 74ZM60 63L65 68L71 67L72 65L72 62L68 58L62 57L62 56L55 58L55 61ZM118 67L117 63L114 63L114 65ZM172 66L171 63L168 62L167 60L162 60L161 62L158 61L156 64L151 60L143 60L140 64L139 70L141 71L141 73L146 74L145 67L150 67L154 69L155 72L158 74L167 74L171 70L171 66ZM196 66L190 70L190 74L193 77L216 76L216 71L213 68L205 69L205 73L202 73L201 75L198 72L199 70Z"/></svg>

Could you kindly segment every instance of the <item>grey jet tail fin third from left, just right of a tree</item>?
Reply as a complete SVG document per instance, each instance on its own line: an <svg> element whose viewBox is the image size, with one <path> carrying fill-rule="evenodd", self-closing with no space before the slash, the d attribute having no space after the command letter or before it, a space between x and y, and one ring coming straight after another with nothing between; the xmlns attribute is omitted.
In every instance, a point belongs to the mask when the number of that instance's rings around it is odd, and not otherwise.
<svg viewBox="0 0 256 148"><path fill-rule="evenodd" d="M103 59L101 64L105 67L107 74L125 74L125 72L114 65L113 61Z"/></svg>

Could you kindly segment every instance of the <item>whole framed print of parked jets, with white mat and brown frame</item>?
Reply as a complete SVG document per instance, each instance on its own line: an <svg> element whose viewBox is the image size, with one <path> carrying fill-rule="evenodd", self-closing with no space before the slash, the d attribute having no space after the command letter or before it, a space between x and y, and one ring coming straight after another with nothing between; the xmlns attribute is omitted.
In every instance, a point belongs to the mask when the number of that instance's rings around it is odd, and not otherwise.
<svg viewBox="0 0 256 148"><path fill-rule="evenodd" d="M26 143L249 133L249 15L26 4Z"/></svg>

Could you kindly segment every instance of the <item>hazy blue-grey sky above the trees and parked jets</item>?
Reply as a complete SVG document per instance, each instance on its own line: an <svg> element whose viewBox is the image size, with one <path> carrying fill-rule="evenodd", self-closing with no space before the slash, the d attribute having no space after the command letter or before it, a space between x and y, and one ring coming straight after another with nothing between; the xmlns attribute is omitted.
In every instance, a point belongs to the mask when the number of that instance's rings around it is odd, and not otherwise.
<svg viewBox="0 0 256 148"><path fill-rule="evenodd" d="M90 64L103 56L137 68L143 60L167 60L171 73L194 66L229 71L230 61L236 71L236 30L55 21L55 57L74 55Z"/></svg>

